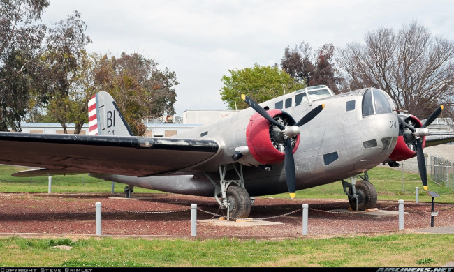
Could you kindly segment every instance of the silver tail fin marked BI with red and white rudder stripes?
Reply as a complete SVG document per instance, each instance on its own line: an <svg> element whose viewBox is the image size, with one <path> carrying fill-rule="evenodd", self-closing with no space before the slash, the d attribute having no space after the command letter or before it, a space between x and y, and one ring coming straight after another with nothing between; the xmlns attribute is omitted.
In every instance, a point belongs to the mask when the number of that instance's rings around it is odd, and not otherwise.
<svg viewBox="0 0 454 272"><path fill-rule="evenodd" d="M105 91L96 93L88 102L88 134L133 136L117 104Z"/></svg>

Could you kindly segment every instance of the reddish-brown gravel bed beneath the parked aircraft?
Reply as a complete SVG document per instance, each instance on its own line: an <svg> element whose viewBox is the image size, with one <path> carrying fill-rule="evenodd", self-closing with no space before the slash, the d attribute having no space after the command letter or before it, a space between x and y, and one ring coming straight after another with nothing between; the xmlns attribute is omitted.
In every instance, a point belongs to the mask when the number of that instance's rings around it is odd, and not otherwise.
<svg viewBox="0 0 454 272"><path fill-rule="evenodd" d="M0 193L0 234L96 234L95 203L101 202L103 235L191 236L191 204L197 219L219 219L213 197L136 194L122 199L110 194ZM302 235L302 204L309 205L307 234L335 236L399 230L398 215L358 216L346 211L346 199L272 199L257 197L254 220L277 225L219 226L198 221L197 236L288 237ZM397 202L379 201L376 208L398 211ZM333 212L334 209L344 212ZM405 202L404 230L431 227L431 204ZM435 203L434 227L454 225L454 205ZM219 214L219 216L217 216Z"/></svg>

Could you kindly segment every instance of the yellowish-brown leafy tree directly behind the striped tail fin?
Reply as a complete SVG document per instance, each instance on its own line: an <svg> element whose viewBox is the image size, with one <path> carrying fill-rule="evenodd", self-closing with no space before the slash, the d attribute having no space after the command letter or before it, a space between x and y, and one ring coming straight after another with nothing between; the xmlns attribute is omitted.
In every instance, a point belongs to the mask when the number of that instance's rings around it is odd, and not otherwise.
<svg viewBox="0 0 454 272"><path fill-rule="evenodd" d="M101 59L96 82L115 99L134 135L145 134L142 119L175 114L176 74L158 65L137 53Z"/></svg>

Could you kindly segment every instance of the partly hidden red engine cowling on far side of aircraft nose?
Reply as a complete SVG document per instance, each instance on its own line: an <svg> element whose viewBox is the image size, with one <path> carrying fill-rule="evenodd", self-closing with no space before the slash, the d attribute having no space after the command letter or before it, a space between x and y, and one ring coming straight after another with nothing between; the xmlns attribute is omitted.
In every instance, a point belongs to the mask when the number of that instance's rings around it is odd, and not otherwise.
<svg viewBox="0 0 454 272"><path fill-rule="evenodd" d="M423 123L411 114L404 114L401 115L404 121L409 123L410 126L414 128L421 128ZM404 126L400 125L399 128L399 137L397 138L397 144L393 150L393 153L389 156L390 160L395 162L401 160L407 160L409 158L413 158L416 156L416 144L414 143L413 135L411 134L411 130L409 128L405 128ZM422 146L425 146L425 137L422 137Z"/></svg>

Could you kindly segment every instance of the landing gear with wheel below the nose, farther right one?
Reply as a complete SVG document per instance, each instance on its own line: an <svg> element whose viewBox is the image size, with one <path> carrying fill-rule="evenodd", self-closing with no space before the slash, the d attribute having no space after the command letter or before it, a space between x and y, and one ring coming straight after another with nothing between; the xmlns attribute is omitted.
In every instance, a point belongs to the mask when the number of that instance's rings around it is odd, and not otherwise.
<svg viewBox="0 0 454 272"><path fill-rule="evenodd" d="M356 181L357 178L359 181ZM367 172L363 175L352 176L351 183L342 180L344 192L349 196L349 204L355 211L365 211L366 209L375 208L377 192L374 184L369 182Z"/></svg>

